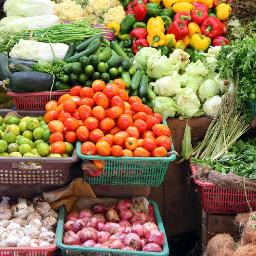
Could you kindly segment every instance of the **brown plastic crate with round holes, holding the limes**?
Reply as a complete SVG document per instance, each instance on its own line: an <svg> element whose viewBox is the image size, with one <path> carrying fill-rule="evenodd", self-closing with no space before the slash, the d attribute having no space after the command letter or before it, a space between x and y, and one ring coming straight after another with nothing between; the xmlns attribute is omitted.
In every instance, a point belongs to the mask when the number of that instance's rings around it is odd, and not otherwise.
<svg viewBox="0 0 256 256"><path fill-rule="evenodd" d="M0 110L0 116L13 110ZM19 110L20 116L40 116L44 111ZM76 150L71 157L66 158L26 158L1 157L0 158L0 184L24 184L43 186L62 186L69 181L69 169L73 162L78 160ZM38 169L29 168L21 162L40 162Z"/></svg>

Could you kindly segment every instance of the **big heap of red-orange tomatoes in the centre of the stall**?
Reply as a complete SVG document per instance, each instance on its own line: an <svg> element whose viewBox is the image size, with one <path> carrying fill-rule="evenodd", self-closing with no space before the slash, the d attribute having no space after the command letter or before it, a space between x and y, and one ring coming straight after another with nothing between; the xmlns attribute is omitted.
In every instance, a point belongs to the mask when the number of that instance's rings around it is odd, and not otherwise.
<svg viewBox="0 0 256 256"><path fill-rule="evenodd" d="M162 115L139 97L129 97L122 79L95 80L92 88L74 86L58 102L49 101L46 111L50 143L59 142L61 148L64 138L70 143L79 139L84 155L165 157L172 146Z"/></svg>

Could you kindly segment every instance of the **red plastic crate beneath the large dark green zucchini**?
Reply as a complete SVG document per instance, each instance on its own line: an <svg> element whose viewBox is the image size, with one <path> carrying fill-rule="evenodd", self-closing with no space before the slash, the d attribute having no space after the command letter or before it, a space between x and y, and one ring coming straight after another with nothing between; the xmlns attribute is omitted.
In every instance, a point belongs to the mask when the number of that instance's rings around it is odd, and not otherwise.
<svg viewBox="0 0 256 256"><path fill-rule="evenodd" d="M51 100L58 101L60 96L66 93L69 92L51 92ZM50 100L50 92L7 92L7 95L13 96L17 110L45 110L45 105Z"/></svg>

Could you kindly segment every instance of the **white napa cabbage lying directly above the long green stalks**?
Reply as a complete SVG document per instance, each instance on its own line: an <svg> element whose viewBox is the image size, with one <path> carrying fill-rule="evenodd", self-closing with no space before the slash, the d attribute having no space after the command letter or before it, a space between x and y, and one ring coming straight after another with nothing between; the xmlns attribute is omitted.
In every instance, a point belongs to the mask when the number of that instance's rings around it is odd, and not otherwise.
<svg viewBox="0 0 256 256"><path fill-rule="evenodd" d="M5 32L17 33L22 30L34 30L39 28L50 28L51 26L60 24L59 17L53 14L33 16L12 20L1 27Z"/></svg>

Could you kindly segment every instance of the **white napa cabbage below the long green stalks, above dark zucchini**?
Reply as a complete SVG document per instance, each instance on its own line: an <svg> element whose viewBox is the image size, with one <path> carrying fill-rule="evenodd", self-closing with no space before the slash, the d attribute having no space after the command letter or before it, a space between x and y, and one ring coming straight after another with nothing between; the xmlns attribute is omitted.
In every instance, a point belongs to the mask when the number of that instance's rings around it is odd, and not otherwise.
<svg viewBox="0 0 256 256"><path fill-rule="evenodd" d="M67 44L51 44L51 46L55 58L63 60L69 46ZM11 50L10 57L13 59L53 62L51 46L48 43L20 39Z"/></svg>

